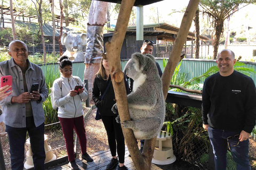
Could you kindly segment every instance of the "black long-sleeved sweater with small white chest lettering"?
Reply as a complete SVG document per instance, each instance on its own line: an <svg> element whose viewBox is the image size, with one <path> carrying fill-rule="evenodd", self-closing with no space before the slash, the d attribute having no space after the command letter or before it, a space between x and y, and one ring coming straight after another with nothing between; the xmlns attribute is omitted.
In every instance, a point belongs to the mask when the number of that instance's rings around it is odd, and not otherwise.
<svg viewBox="0 0 256 170"><path fill-rule="evenodd" d="M215 73L205 80L202 97L203 124L251 133L256 118L256 90L250 77L237 71L227 77Z"/></svg>

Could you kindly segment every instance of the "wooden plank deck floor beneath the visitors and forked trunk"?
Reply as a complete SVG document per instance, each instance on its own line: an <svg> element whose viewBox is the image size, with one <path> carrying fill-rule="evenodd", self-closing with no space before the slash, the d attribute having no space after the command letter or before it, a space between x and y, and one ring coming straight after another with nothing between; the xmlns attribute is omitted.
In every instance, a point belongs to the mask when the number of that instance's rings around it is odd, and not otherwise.
<svg viewBox="0 0 256 170"><path fill-rule="evenodd" d="M136 169L134 164L132 163L132 158L129 157L129 151L127 147L125 148L125 166L128 167L131 170ZM76 159L76 164L78 165L79 169L88 169L88 170L105 170L106 166L111 160L111 153L109 150L107 151L99 151L94 154L90 155L93 158L93 162L86 162L86 160L81 160L81 158ZM68 167L68 162L54 166L49 167L47 170L63 170L63 169L70 169ZM113 169L115 170L116 167ZM151 170L165 170L165 169L172 169L172 170L196 170L199 169L199 167L192 165L188 162L185 162L183 160L177 159L174 163L169 165L155 165L151 164Z"/></svg>

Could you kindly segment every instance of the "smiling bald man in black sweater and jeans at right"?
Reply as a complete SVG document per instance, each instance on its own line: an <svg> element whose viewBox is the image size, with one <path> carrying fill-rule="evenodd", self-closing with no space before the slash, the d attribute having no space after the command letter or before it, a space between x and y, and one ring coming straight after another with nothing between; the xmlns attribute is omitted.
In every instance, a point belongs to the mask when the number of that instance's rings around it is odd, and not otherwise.
<svg viewBox="0 0 256 170"><path fill-rule="evenodd" d="M237 169L251 169L250 133L255 125L256 89L253 80L234 71L235 54L224 49L218 54L219 72L204 82L202 119L213 146L215 169L226 169L227 148Z"/></svg>

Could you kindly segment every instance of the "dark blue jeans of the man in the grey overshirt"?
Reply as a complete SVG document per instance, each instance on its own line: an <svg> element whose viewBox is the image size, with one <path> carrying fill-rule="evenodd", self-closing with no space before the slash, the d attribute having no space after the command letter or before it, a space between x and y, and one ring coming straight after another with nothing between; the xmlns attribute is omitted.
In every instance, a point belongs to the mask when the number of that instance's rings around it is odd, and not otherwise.
<svg viewBox="0 0 256 170"><path fill-rule="evenodd" d="M45 169L44 123L36 127L33 116L31 117L26 118L26 128L12 128L11 126L6 125L5 131L8 133L9 138L12 170L23 170L27 131L33 153L34 169ZM28 124L28 122L30 123Z"/></svg>

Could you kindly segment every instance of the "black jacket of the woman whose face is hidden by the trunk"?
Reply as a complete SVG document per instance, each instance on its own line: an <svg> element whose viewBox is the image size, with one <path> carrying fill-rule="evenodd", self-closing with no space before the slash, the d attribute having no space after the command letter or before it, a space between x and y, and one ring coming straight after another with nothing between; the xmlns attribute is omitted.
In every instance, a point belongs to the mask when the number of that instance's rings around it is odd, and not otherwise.
<svg viewBox="0 0 256 170"><path fill-rule="evenodd" d="M127 78L125 76L124 78L125 82L125 88L126 88L126 94L129 94L129 84L127 82ZM110 87L108 88L106 95L101 100L101 95L105 92L109 81L111 81L111 78L109 76L108 80L103 80L102 77L99 75L99 77L95 76L94 82L93 82L93 89L92 89L92 99L95 103L95 105L98 107L100 115L102 116L114 116L115 114L111 111L112 106L116 103L115 101L115 92L113 88L112 82L110 82Z"/></svg>

